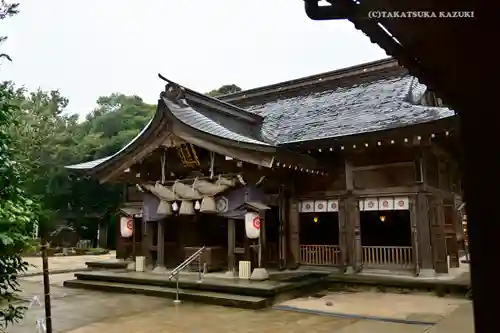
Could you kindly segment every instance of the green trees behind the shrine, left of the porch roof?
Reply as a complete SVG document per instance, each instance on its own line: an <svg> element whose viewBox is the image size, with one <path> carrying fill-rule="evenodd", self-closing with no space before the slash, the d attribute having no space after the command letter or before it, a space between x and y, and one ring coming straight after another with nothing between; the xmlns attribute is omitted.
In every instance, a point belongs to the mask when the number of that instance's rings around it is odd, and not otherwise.
<svg viewBox="0 0 500 333"><path fill-rule="evenodd" d="M94 237L99 219L109 220L121 202L122 187L99 184L65 165L115 153L151 119L155 106L137 96L100 97L83 123L68 116L68 100L58 91L15 89L16 117L11 127L17 159L28 169L24 189L41 204L40 222L46 229L59 221L72 224L82 237Z"/></svg>

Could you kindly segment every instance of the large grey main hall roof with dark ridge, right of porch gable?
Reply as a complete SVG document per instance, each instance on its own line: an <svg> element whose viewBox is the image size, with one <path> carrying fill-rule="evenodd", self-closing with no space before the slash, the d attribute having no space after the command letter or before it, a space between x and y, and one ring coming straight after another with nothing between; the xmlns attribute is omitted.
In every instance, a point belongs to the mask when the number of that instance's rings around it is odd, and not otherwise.
<svg viewBox="0 0 500 333"><path fill-rule="evenodd" d="M264 118L276 145L340 138L454 116L420 104L427 87L393 59L223 96Z"/></svg>

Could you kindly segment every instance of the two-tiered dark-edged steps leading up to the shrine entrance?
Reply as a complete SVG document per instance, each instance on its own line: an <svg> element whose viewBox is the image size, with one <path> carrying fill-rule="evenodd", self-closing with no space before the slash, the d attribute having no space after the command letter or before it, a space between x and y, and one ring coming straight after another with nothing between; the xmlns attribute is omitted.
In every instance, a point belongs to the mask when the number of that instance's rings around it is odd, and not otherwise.
<svg viewBox="0 0 500 333"><path fill-rule="evenodd" d="M163 274L98 270L76 273L75 277L75 280L65 281L64 286L170 299L176 297L176 281L169 281ZM181 274L179 299L244 309L263 309L277 302L300 297L323 288L324 278L324 274L301 273L282 275L278 276L277 280L264 282L205 278L200 283L197 281L196 274Z"/></svg>

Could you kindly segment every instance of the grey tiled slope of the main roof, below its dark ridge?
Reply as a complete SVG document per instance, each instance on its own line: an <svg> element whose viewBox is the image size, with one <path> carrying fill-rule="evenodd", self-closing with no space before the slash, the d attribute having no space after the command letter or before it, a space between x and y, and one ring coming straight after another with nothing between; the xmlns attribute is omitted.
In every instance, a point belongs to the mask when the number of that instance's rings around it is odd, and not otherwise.
<svg viewBox="0 0 500 333"><path fill-rule="evenodd" d="M264 117L263 136L275 144L374 132L454 115L448 108L413 104L425 89L412 76L400 74L277 99L248 110Z"/></svg>

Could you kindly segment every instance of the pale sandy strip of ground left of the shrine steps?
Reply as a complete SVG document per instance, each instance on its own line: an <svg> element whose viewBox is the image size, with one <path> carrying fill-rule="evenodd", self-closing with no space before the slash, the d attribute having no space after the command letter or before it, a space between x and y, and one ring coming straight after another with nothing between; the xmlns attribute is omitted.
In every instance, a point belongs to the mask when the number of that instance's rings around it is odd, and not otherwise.
<svg viewBox="0 0 500 333"><path fill-rule="evenodd" d="M84 270L87 268L85 263L88 261L108 260L115 257L115 251L111 251L110 253L103 255L49 257L49 271L61 272ZM42 257L25 257L23 259L29 264L28 271L25 275L42 273Z"/></svg>

